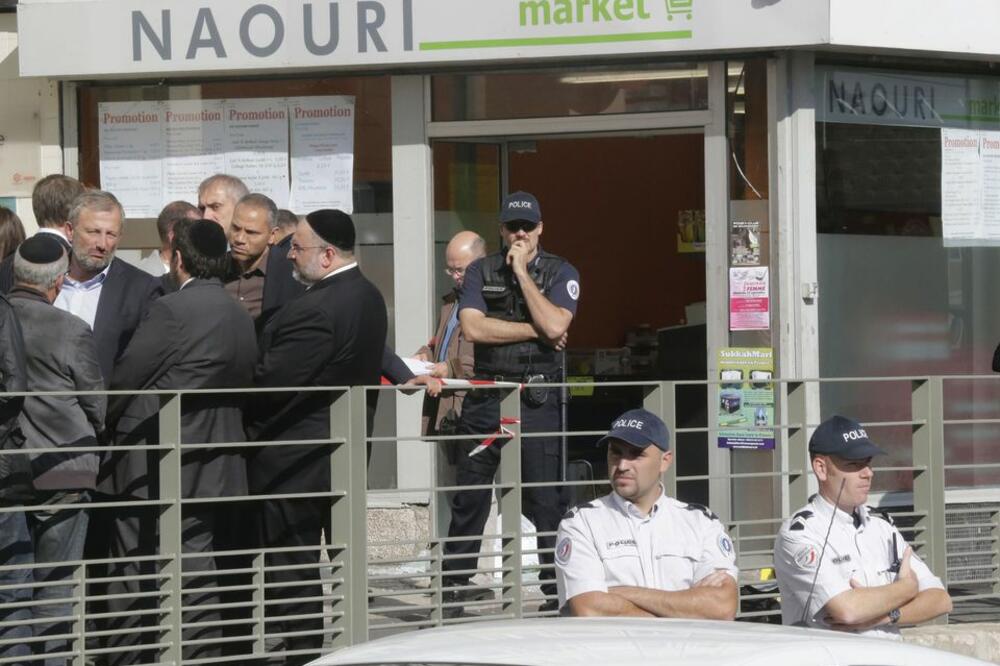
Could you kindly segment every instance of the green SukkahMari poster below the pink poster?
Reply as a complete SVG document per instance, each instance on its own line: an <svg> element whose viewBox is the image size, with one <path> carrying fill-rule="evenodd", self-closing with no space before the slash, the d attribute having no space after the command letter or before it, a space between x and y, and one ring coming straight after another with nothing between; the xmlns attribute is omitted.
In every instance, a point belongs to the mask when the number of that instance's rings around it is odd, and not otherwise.
<svg viewBox="0 0 1000 666"><path fill-rule="evenodd" d="M773 449L774 350L727 347L719 350L720 449Z"/></svg>

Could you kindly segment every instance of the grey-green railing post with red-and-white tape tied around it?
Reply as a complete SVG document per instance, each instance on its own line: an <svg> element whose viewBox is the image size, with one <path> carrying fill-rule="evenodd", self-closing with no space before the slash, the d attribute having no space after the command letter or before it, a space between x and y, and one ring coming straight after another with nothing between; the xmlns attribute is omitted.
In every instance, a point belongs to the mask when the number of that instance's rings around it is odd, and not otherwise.
<svg viewBox="0 0 1000 666"><path fill-rule="evenodd" d="M501 607L504 613L513 613L514 617L519 618L523 614L524 600L521 580L521 553L524 550L524 535L521 534L521 392L517 388L503 388L500 391L500 422L507 423L502 427L512 433L509 439L503 440L498 478L499 483L512 486L500 489L498 507L503 516L503 532L500 534L500 568L503 580ZM529 442L528 446L531 445Z"/></svg>

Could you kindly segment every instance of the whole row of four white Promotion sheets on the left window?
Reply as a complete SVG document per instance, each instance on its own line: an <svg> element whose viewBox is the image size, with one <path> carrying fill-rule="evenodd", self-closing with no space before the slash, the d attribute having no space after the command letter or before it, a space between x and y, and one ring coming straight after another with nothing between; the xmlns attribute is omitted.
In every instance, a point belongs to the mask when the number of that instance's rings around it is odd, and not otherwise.
<svg viewBox="0 0 1000 666"><path fill-rule="evenodd" d="M353 209L353 97L106 102L98 132L101 185L132 217L193 200L220 172L280 208Z"/></svg>

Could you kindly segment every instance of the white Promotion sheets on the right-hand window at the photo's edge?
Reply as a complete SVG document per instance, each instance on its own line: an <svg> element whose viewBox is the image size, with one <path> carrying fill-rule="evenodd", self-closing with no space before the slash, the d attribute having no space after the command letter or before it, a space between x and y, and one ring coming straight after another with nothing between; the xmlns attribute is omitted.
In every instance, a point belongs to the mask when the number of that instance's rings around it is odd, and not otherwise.
<svg viewBox="0 0 1000 666"><path fill-rule="evenodd" d="M941 235L951 247L1000 244L1000 132L941 130Z"/></svg>

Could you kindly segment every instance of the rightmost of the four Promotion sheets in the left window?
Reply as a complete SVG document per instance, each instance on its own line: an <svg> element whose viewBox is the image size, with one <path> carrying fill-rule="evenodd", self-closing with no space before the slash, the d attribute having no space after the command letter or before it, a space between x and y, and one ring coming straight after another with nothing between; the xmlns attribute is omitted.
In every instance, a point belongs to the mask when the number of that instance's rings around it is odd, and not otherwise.
<svg viewBox="0 0 1000 666"><path fill-rule="evenodd" d="M354 98L306 97L288 105L295 210L354 212Z"/></svg>

